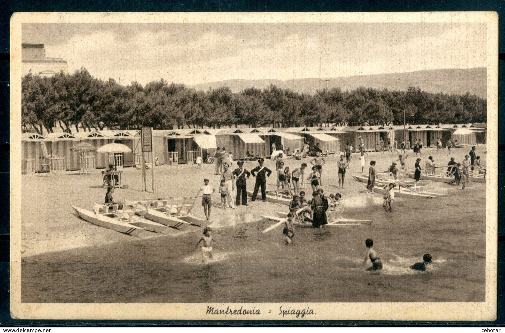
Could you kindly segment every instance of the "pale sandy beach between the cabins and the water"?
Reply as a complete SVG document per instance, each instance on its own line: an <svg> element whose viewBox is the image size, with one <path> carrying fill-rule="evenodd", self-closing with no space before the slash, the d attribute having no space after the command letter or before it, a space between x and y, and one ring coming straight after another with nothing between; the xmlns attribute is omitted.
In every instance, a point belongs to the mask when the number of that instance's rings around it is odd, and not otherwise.
<svg viewBox="0 0 505 333"><path fill-rule="evenodd" d="M456 161L461 161L464 155L468 153L470 147L452 149L451 155L456 158ZM481 156L482 162L485 164L485 147L477 147L477 154ZM447 150L437 151L435 148L423 149L421 166L424 168L424 163L429 155L435 159L436 165L446 165L449 157ZM407 152L409 155L406 164L407 168L413 168L415 163L415 154L412 150ZM391 164L392 160L397 160L396 154L378 152L369 152L365 156L367 168L365 174L368 173L368 165L370 160L377 162L377 171L385 171ZM296 160L294 158L285 161L286 166L290 170L298 167L302 162L309 164L312 158ZM346 173L345 188L337 189L328 186L328 184L338 184L338 175L336 155L325 156L326 164L323 166L323 189L326 194L339 192L343 198L355 199L367 196L361 191L364 190L364 185L356 182L350 176L354 172L361 172L361 164L359 153L352 155L352 160L349 169ZM234 163L236 168L236 161ZM257 165L257 162L247 162L244 167L251 170ZM274 161L267 159L265 165L274 170ZM399 164L398 164L399 165ZM169 196L191 196L195 195L199 187L203 184L204 178L211 180L210 184L216 188L219 187L219 176L214 175L213 164L203 164L201 169L195 167L196 164L181 164L181 165L163 165L155 168L155 193L145 193L147 197L169 197ZM310 173L306 169L306 177ZM150 176L150 171L147 173ZM148 180L150 186L150 180ZM305 186L309 182L304 181ZM123 172L123 184L127 184L129 189L116 189L114 193L115 200L127 199L143 199L144 192L141 192L141 170L134 168L125 168ZM274 173L267 181L268 189L275 188ZM126 234L121 234L106 228L92 225L78 218L71 205L82 207L91 210L93 202L103 202L106 189L102 188L101 173L99 170L92 172L90 175L79 174L63 174L63 175L48 175L23 176L22 181L22 248L23 257L33 256L46 252L62 251L71 248L98 246L114 242L132 242L136 239ZM484 186L483 184L470 183L465 191L472 191L473 187ZM248 189L254 188L254 178L248 181ZM432 183L425 187L426 191L450 193L456 195L461 188L449 186L446 184ZM310 188L306 192L311 191ZM216 192L213 195L213 202L220 203L219 194ZM483 201L484 202L484 201ZM482 203L483 203L482 202ZM379 207L370 207L371 210ZM252 222L261 219L259 216L262 213L272 213L279 210L279 205L270 202L256 201L247 207L241 206L235 210L222 210L214 208L212 211L212 226L225 227L233 225L235 220L242 222ZM204 218L203 209L200 200L197 199L193 206L192 213L200 218ZM349 212L347 212L349 213ZM230 218L232 217L232 218ZM358 217L359 218L359 217ZM177 233L174 233L176 235Z"/></svg>

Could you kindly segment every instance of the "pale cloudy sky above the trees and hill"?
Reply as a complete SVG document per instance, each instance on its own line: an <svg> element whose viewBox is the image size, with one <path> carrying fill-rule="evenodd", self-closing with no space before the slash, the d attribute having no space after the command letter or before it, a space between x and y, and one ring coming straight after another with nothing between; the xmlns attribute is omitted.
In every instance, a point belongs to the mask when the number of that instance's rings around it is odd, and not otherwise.
<svg viewBox="0 0 505 333"><path fill-rule="evenodd" d="M483 23L23 23L22 41L122 85L486 66Z"/></svg>

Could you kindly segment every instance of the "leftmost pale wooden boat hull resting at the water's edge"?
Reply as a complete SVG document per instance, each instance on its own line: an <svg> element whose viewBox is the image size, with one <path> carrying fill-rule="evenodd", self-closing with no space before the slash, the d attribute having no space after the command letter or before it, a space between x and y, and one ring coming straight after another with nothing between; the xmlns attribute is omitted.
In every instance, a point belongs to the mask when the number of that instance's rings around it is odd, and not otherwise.
<svg viewBox="0 0 505 333"><path fill-rule="evenodd" d="M72 209L81 219L88 221L94 225L139 238L147 238L153 236L153 232L151 231L145 230L141 227L135 227L130 223L120 221L104 214L99 214L97 210L95 210L95 212L91 212L73 205Z"/></svg>

